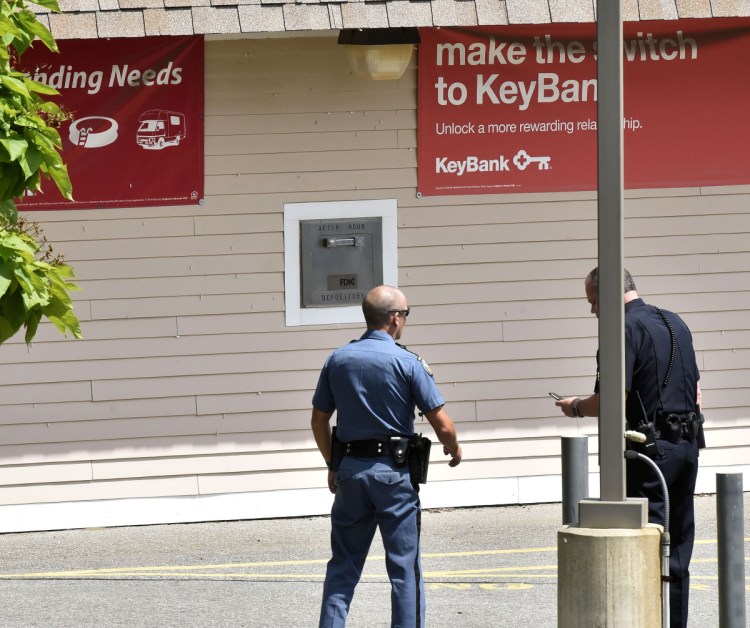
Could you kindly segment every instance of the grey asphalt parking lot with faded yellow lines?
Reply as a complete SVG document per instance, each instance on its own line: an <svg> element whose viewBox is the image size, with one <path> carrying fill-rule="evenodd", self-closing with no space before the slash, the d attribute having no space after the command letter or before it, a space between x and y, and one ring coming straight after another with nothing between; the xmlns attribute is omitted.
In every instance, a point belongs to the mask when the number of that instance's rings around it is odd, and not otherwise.
<svg viewBox="0 0 750 628"><path fill-rule="evenodd" d="M690 625L710 628L719 625L715 497L698 497L696 509ZM555 626L561 512L560 504L426 511L427 625ZM750 493L744 515L750 585ZM0 535L0 623L316 626L328 534L327 517L310 517ZM376 537L348 625L389 624Z"/></svg>

